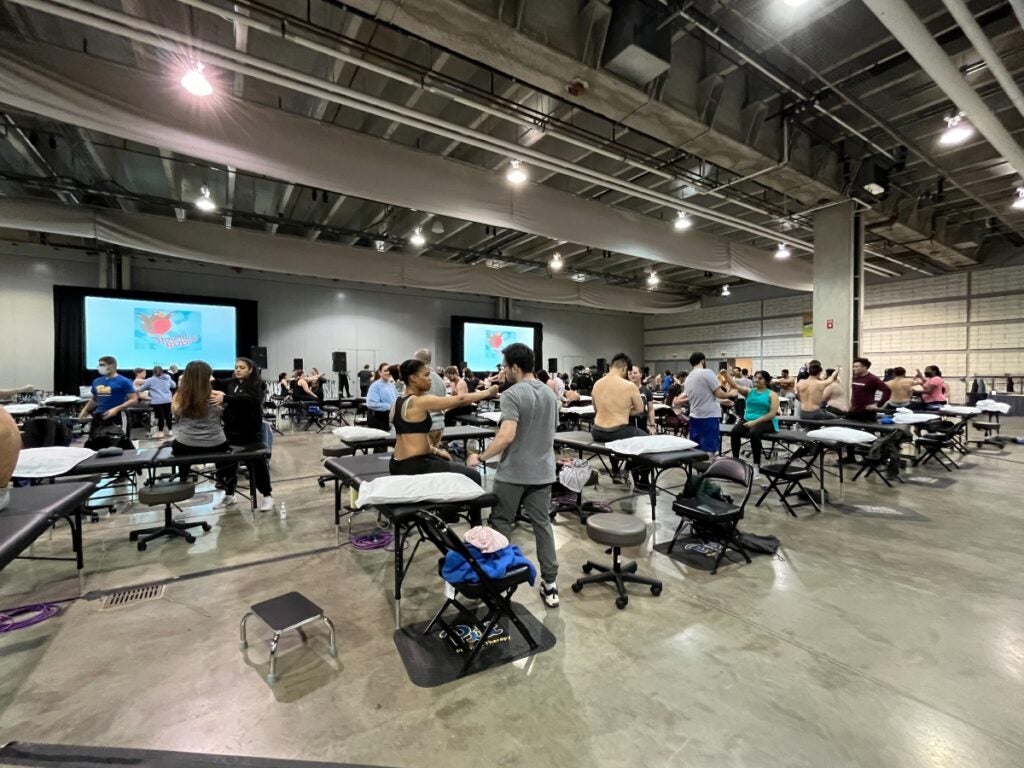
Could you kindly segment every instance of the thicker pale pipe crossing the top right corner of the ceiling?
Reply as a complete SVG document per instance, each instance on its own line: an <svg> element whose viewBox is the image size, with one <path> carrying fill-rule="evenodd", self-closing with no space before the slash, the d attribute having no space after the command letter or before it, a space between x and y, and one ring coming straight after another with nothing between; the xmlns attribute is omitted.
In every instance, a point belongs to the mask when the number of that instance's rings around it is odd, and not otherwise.
<svg viewBox="0 0 1024 768"><path fill-rule="evenodd" d="M1024 176L1024 150L964 80L956 66L909 6L903 0L864 0L864 4L959 111L970 116L971 125L1017 173Z"/></svg>

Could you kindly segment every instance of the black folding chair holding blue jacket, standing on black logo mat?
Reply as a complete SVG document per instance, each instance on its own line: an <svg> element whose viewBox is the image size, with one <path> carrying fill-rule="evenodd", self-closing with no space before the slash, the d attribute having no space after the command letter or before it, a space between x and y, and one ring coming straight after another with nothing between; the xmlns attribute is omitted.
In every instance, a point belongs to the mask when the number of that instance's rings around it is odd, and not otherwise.
<svg viewBox="0 0 1024 768"><path fill-rule="evenodd" d="M417 513L417 524L419 525L420 531L423 534L425 539L428 539L438 551L445 555L449 551L454 551L461 555L469 566L473 569L473 573L476 575L475 581L471 582L460 582L458 584L453 584L452 588L454 594L444 600L444 604L441 605L434 617L430 620L430 624L423 631L423 634L429 634L434 627L440 627L444 630L444 633L451 638L452 642L466 655L466 662L462 666L461 674L465 675L472 666L476 656L480 653L480 650L486 644L486 640L490 637L490 631L494 629L495 624L502 616L506 616L519 631L523 639L529 645L530 650L537 650L538 643L534 639L534 636L529 634L529 631L519 620L519 616L515 614L515 610L512 608L512 595L515 594L516 589L519 585L529 581L529 568L525 565L519 565L514 568L510 568L506 571L505 575L501 579L493 579L487 575L480 564L473 557L466 544L459 538L452 528L447 526L440 517L438 517L433 512L428 512L426 510L421 510ZM437 572L440 574L441 568L444 564L444 558L442 557L437 563ZM476 620L475 612L467 608L459 598L465 597L469 600L480 600L487 608L487 613L482 620ZM447 623L444 618L444 611L450 607L457 608L463 615L471 615L474 617L474 625L479 631L479 638L472 647L466 642L466 639L462 637L456 628Z"/></svg>

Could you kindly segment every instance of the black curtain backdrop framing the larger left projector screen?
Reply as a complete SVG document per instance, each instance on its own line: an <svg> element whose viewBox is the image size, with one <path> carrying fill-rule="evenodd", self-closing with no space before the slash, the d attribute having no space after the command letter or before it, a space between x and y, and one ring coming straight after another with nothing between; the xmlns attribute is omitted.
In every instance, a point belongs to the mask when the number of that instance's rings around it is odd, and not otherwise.
<svg viewBox="0 0 1024 768"><path fill-rule="evenodd" d="M78 394L80 386L90 384L98 375L92 370L96 361L84 360L86 296L233 306L237 321L234 353L240 357L248 357L252 348L259 345L258 303L255 301L146 291L111 291L98 288L53 286L53 391L57 393ZM88 366L85 362L88 362ZM134 377L132 371L121 371L121 373L129 379ZM230 372L221 371L217 374L220 378L220 376L229 376Z"/></svg>

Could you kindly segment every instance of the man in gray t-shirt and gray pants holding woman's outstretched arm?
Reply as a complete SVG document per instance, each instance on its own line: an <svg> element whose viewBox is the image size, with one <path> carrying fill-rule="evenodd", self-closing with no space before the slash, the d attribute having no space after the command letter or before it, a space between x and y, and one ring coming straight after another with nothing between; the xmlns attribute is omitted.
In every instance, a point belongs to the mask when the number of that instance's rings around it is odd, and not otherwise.
<svg viewBox="0 0 1024 768"><path fill-rule="evenodd" d="M492 492L498 503L490 510L490 526L512 536L516 512L534 528L537 559L541 562L541 598L549 607L558 605L558 558L551 529L551 483L555 481L555 427L558 400L546 384L534 377L534 350L525 344L509 344L502 350L505 376L512 386L502 392L502 421L498 434L466 466L502 455Z"/></svg>

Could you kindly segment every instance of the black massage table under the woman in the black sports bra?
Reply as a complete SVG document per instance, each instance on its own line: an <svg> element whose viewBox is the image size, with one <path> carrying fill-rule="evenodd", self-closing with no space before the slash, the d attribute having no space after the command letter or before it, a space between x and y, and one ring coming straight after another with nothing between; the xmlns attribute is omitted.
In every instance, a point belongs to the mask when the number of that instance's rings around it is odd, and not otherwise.
<svg viewBox="0 0 1024 768"><path fill-rule="evenodd" d="M328 459L324 467L334 475L334 524L338 536L341 536L342 489L358 488L364 482L369 482L376 477L389 475L388 461L390 457L386 454L371 454L370 456L343 456ZM409 571L409 566L416 556L416 550L423 541L423 537L417 541L406 558L406 542L410 534L419 529L417 513L421 510L437 512L445 518L457 517L469 512L478 524L480 510L494 507L497 499L493 494L487 494L480 488L480 496L476 499L465 502L417 502L415 504L393 504L380 505L375 509L391 523L394 531L394 626L395 629L401 627L401 584Z"/></svg>

